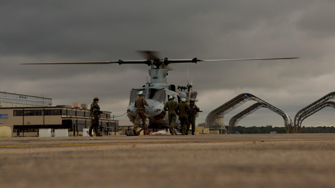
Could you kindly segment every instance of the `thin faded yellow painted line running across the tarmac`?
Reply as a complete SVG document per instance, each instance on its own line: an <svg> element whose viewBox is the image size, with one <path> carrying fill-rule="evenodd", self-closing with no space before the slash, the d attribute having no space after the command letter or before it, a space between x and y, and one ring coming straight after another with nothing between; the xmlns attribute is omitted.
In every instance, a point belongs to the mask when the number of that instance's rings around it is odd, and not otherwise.
<svg viewBox="0 0 335 188"><path fill-rule="evenodd" d="M197 140L176 142L121 142L121 143L86 143L86 144L49 144L49 145L16 145L0 146L0 148L32 148L32 147L63 147L63 146L108 146L108 145L136 145L136 144L199 144L199 143L233 143L233 142L296 142L296 141L335 141L335 139L289 139L289 140Z"/></svg>

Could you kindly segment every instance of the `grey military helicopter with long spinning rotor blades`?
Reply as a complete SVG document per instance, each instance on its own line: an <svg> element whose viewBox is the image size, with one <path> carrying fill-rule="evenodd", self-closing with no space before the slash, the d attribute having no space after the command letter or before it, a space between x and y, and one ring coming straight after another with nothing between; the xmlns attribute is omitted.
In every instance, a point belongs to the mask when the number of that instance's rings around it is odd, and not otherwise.
<svg viewBox="0 0 335 188"><path fill-rule="evenodd" d="M197 62L213 62L213 61L246 61L246 60L275 60L275 59L296 59L299 57L293 58L254 58L254 59L219 59L219 60L199 60L197 58L193 59L169 59L163 58L160 59L158 57L158 51L138 51L141 53L146 59L145 60L133 60L133 61L124 61L119 59L119 61L115 62L63 62L63 63L24 63L24 65L61 65L61 64L145 64L150 66L149 75L150 82L147 81L145 85L142 87L133 88L130 91L129 98L129 106L127 109L127 116L131 122L134 123L136 116L136 108L134 106L134 102L138 97L139 91L144 91L145 99L149 104L150 108L146 107L146 115L147 115L147 126L151 129L166 129L169 128L169 118L167 113L164 111L163 107L165 102L168 101L170 95L175 97L174 100L177 102L181 101L181 98L196 98L197 92L192 92L192 82L189 82L187 86L177 86L174 84L169 84L167 82L167 72L168 70L173 70L170 68L170 64L173 63L197 63ZM180 121L176 120L176 128L179 130ZM174 129L175 133L181 134ZM139 135L130 133L127 135Z"/></svg>

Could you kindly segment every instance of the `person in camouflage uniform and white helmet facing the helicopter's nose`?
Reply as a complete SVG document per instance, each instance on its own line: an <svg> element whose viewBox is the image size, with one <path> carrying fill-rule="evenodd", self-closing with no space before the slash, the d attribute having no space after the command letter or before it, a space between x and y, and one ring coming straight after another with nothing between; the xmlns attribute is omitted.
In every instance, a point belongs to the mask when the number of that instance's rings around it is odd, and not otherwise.
<svg viewBox="0 0 335 188"><path fill-rule="evenodd" d="M149 104L146 102L145 98L143 97L144 93L143 91L138 92L139 97L135 100L135 108L136 108L136 117L134 122L134 133L137 134L137 131L139 129L138 125L140 124L140 120L142 119L143 123L143 134L148 134L148 129L146 125L146 113L145 113L145 106L149 106ZM150 108L150 106L149 106Z"/></svg>

